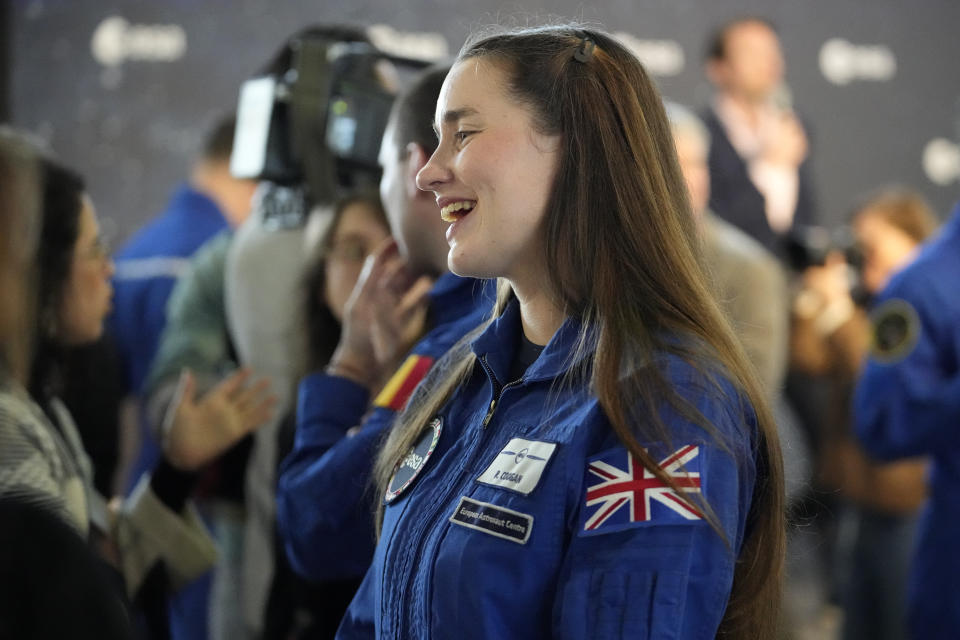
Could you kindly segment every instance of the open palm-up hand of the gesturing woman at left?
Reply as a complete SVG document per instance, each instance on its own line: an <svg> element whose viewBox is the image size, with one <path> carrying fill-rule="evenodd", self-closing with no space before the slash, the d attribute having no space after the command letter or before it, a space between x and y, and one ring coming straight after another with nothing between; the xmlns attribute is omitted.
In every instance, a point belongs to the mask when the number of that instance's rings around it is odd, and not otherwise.
<svg viewBox="0 0 960 640"><path fill-rule="evenodd" d="M196 471L270 418L277 398L269 381L249 379L250 370L240 369L197 400L196 380L183 371L162 430L170 464Z"/></svg>

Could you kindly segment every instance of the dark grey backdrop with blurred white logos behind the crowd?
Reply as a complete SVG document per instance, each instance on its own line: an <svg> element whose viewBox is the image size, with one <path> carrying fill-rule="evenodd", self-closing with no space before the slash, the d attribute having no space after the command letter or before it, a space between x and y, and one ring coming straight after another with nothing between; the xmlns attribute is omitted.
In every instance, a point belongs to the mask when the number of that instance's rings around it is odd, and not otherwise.
<svg viewBox="0 0 960 640"><path fill-rule="evenodd" d="M896 181L944 214L960 197L960 2L955 0L8 0L0 114L82 169L122 241L159 210L240 82L317 21L389 25L407 53L454 53L474 28L550 15L628 33L665 95L709 96L703 43L743 13L780 28L797 109L812 123L822 218ZM9 41L8 41L9 39ZM438 47L438 45L440 45ZM2 83L0 83L2 87ZM932 141L941 139L932 144Z"/></svg>

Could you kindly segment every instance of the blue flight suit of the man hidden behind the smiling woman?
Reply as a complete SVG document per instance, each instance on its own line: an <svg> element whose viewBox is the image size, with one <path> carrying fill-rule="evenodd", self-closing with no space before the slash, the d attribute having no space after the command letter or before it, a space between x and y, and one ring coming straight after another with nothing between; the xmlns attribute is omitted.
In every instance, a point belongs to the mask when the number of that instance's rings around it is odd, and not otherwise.
<svg viewBox="0 0 960 640"><path fill-rule="evenodd" d="M431 331L411 358L436 360L493 308L494 281L441 276L430 292ZM300 383L293 451L280 469L277 529L290 565L316 581L360 579L374 549L370 474L397 407L346 378L314 373ZM351 427L362 428L345 437Z"/></svg>

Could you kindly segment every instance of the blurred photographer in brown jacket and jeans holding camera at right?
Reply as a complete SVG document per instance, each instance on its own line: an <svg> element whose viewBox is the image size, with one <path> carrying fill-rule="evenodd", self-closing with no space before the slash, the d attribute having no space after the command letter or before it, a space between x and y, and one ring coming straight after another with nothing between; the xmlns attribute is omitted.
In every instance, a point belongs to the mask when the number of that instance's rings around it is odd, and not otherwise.
<svg viewBox="0 0 960 640"><path fill-rule="evenodd" d="M837 543L837 555L850 558L849 575L840 581L844 638L905 634L904 585L917 511L926 499L926 462L871 460L852 434L850 408L870 346L869 300L913 260L935 228L936 218L918 194L879 192L855 210L853 247L842 251L835 244L821 264L803 269L794 300L792 365L829 384L827 415L816 434L819 480L847 503ZM805 253L818 259L809 247Z"/></svg>

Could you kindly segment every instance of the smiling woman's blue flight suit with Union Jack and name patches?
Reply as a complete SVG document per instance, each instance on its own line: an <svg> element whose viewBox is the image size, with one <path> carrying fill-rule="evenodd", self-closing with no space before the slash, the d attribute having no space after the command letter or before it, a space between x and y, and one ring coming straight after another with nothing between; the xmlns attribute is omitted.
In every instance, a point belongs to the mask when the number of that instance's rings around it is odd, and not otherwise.
<svg viewBox="0 0 960 640"><path fill-rule="evenodd" d="M514 301L472 342L471 376L431 421L435 449L399 467L420 475L386 506L337 637L715 637L755 485L752 409L724 379L661 359L726 448L666 406L671 442L644 446L712 507L724 540L633 462L586 385L558 384L578 323L508 382L520 330Z"/></svg>

